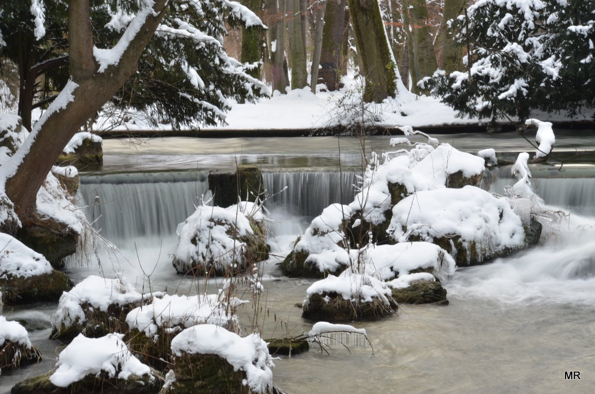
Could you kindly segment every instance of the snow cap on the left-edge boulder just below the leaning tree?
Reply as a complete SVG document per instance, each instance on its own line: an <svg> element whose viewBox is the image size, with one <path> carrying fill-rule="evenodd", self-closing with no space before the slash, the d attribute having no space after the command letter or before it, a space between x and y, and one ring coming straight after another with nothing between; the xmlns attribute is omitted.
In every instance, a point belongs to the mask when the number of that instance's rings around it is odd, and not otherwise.
<svg viewBox="0 0 595 394"><path fill-rule="evenodd" d="M20 240L0 233L0 277L8 275L29 278L52 272L52 265L42 254L23 245Z"/></svg>

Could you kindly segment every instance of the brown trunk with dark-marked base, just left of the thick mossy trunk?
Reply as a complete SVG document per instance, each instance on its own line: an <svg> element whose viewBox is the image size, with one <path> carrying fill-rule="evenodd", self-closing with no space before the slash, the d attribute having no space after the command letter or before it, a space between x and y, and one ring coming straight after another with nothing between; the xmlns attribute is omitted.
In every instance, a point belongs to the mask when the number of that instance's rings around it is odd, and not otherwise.
<svg viewBox="0 0 595 394"><path fill-rule="evenodd" d="M346 0L327 1L322 29L320 71L318 75L328 90L339 89L340 70L343 63L343 33L345 31Z"/></svg>

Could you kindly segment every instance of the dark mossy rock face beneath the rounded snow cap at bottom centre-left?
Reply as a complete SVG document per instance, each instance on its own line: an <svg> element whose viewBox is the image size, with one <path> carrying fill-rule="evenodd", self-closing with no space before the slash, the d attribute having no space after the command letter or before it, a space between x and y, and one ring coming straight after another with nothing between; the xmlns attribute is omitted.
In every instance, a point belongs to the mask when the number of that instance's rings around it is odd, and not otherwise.
<svg viewBox="0 0 595 394"><path fill-rule="evenodd" d="M173 363L176 380L161 393L250 393L242 384L243 371L234 371L226 359L214 354L182 354Z"/></svg>

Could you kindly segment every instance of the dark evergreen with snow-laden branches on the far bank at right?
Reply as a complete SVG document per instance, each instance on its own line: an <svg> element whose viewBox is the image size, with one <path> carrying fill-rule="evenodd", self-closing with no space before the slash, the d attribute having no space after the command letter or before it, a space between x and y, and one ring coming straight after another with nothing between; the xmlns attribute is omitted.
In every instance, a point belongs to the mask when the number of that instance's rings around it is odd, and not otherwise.
<svg viewBox="0 0 595 394"><path fill-rule="evenodd" d="M595 0L482 0L459 17L465 70L425 80L461 116L518 117L595 107Z"/></svg>

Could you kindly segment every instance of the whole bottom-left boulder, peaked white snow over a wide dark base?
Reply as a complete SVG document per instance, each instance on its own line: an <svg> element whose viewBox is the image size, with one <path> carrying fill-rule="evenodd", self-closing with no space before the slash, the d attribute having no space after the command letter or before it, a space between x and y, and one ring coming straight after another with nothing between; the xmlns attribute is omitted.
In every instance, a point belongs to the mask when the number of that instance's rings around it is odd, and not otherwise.
<svg viewBox="0 0 595 394"><path fill-rule="evenodd" d="M58 356L56 368L18 383L12 393L156 393L161 381L129 351L123 334L79 334Z"/></svg>

